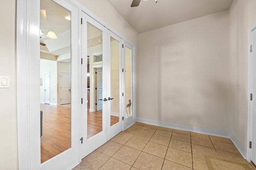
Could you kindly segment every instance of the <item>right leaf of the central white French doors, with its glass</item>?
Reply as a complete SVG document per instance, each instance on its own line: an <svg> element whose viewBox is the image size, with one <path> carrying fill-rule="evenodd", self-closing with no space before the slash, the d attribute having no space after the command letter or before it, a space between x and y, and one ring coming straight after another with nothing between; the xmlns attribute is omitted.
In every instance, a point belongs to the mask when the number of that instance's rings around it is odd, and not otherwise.
<svg viewBox="0 0 256 170"><path fill-rule="evenodd" d="M108 36L108 140L122 131L122 39Z"/></svg>

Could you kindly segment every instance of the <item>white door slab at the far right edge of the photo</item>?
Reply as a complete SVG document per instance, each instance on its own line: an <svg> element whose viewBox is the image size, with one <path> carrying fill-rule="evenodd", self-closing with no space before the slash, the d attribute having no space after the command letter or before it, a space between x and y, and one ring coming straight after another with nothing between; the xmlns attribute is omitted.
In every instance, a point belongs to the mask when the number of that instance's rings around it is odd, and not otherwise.
<svg viewBox="0 0 256 170"><path fill-rule="evenodd" d="M256 96L256 29L252 31L252 94ZM251 161L256 164L256 98L252 100L252 150Z"/></svg>

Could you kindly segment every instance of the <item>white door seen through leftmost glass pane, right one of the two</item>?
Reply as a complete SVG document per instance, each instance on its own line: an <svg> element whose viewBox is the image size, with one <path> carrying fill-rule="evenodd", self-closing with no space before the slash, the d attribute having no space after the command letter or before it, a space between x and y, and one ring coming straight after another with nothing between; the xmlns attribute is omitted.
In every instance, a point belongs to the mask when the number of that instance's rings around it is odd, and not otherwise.
<svg viewBox="0 0 256 170"><path fill-rule="evenodd" d="M70 73L60 73L60 104L70 104L71 99Z"/></svg>

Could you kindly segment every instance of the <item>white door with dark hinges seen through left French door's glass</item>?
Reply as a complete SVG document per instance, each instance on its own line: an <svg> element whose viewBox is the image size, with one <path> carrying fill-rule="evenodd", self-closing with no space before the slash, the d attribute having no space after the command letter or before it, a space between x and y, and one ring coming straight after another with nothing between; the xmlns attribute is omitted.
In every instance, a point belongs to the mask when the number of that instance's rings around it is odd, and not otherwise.
<svg viewBox="0 0 256 170"><path fill-rule="evenodd" d="M103 88L102 88L102 67L96 68L95 72L96 78L96 111L102 110L102 97L103 97Z"/></svg>

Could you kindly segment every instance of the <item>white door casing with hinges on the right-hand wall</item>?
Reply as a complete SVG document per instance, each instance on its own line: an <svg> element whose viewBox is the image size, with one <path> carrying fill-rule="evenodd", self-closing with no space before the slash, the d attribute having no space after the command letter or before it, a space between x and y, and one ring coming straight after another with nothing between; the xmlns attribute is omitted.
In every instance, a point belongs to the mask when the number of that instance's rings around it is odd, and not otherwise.
<svg viewBox="0 0 256 170"><path fill-rule="evenodd" d="M249 148L249 143L252 141L252 101L250 100L250 94L253 93L253 82L252 82L252 68L253 68L253 63L252 63L252 53L250 52L250 45L252 45L252 31L256 29L256 22L249 27L248 29L248 93L247 93L247 156L246 160L251 161L251 149ZM254 48L255 50L255 48ZM255 66L254 66L255 67ZM255 86L255 84L254 84ZM256 93L254 93L254 98L256 96ZM256 141L254 141L256 142Z"/></svg>

